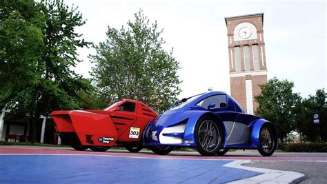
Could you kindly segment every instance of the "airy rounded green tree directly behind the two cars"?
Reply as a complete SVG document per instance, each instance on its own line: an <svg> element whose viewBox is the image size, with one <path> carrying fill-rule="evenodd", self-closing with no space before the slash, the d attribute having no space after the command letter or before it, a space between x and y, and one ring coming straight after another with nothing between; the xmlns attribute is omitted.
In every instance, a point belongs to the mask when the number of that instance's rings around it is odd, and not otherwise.
<svg viewBox="0 0 327 184"><path fill-rule="evenodd" d="M157 22L149 20L140 10L128 28L110 28L108 39L95 45L97 54L90 55L92 76L97 92L107 105L120 99L143 101L157 111L177 100L179 62L166 52Z"/></svg>

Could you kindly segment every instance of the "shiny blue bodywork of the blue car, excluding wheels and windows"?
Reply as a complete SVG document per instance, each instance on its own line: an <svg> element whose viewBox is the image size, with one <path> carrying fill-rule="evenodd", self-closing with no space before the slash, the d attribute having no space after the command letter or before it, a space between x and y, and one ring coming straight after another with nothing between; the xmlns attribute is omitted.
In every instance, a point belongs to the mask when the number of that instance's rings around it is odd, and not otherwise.
<svg viewBox="0 0 327 184"><path fill-rule="evenodd" d="M196 104L203 99L206 99L210 96L214 96L217 94L224 94L226 95L227 105L225 108L220 108L216 110L206 110L197 106ZM226 94L225 92L208 92L205 94L199 95L197 98L192 99L192 101L186 101L184 105L179 108L170 108L163 114L161 114L155 121L151 121L148 123L146 130L150 128L149 134L143 134L144 145L152 146L152 145L163 145L160 143L159 134L165 127L173 127L175 125L179 125L180 123L186 123L184 134L181 133L165 133L165 136L177 136L182 137L183 140L192 141L192 143L181 143L181 144L169 144L171 146L178 146L178 147L196 147L195 143L195 125L197 121L205 115L211 114L216 116L217 119L221 122L221 127L224 129L224 142L222 143L221 147L228 147L233 149L257 149L259 146L259 132L260 128L264 123L270 123L265 119L261 119L259 116L253 116L250 114L245 114L244 110L241 109L240 105L232 99L231 96ZM235 144L226 144L226 129L224 126L224 121L235 121L237 123L242 123L248 125L248 128L251 130L249 143L235 143ZM270 123L271 124L271 123ZM157 131L157 139L153 140L151 137L151 132ZM277 139L277 133L274 132L275 138ZM150 136L150 137L149 137ZM150 141L146 141L149 140ZM277 142L277 140L276 140Z"/></svg>

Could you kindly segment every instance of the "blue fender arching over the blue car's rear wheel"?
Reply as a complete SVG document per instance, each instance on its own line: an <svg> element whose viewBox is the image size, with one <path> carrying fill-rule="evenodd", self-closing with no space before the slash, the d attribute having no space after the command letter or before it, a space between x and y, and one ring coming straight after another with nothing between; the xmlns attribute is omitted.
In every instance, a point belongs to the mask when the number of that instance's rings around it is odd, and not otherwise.
<svg viewBox="0 0 327 184"><path fill-rule="evenodd" d="M267 121L266 119L257 119L256 121L254 121L254 122L250 123L250 125L248 125L248 127L252 126L251 145L253 147L259 147L259 145L260 145L260 141L259 141L260 130L261 130L261 127L265 124L270 125L270 127L273 129L273 134L274 134L274 139L275 139L276 149L277 149L277 147L278 147L277 131L276 131L275 127L273 126L273 124L270 123L269 121Z"/></svg>

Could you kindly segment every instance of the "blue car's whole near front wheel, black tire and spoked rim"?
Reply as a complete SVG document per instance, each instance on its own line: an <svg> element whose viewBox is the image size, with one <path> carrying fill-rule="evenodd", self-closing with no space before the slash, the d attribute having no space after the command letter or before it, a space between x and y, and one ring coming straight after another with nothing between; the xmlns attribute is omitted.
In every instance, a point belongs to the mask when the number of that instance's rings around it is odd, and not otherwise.
<svg viewBox="0 0 327 184"><path fill-rule="evenodd" d="M195 125L195 143L197 151L203 156L214 156L218 153L223 140L223 130L217 119L204 116Z"/></svg>

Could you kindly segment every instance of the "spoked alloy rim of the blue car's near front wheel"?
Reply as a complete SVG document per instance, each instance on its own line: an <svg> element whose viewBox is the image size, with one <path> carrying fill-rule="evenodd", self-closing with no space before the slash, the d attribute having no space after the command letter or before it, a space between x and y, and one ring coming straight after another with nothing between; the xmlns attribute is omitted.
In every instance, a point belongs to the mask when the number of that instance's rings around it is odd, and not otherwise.
<svg viewBox="0 0 327 184"><path fill-rule="evenodd" d="M220 141L219 130L215 122L206 120L199 126L199 143L206 152L212 152Z"/></svg>

